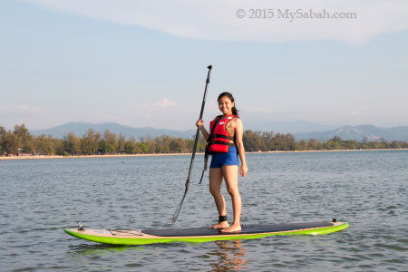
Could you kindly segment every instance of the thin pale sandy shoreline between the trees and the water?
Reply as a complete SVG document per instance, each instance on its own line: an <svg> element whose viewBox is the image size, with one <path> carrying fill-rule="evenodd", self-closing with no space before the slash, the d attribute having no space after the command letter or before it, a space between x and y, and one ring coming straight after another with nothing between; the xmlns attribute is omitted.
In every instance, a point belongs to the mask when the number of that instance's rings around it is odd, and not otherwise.
<svg viewBox="0 0 408 272"><path fill-rule="evenodd" d="M245 152L246 154L274 154L274 153L311 153L311 152L350 152L350 151L408 151L408 149L373 149L373 150L332 150L332 151L258 151ZM34 155L0 157L0 160L52 160L52 159L83 159L83 158L126 158L126 157L162 157L162 156L191 156L192 153L156 153L156 154L112 154L112 155ZM204 155L198 152L196 155Z"/></svg>

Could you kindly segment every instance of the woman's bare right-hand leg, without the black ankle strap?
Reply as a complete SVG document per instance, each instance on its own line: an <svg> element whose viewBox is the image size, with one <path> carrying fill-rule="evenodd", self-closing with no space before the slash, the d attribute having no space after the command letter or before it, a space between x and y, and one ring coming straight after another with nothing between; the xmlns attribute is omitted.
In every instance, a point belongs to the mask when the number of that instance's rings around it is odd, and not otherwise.
<svg viewBox="0 0 408 272"><path fill-rule="evenodd" d="M241 196L238 191L238 166L237 165L225 165L221 168L222 176L224 176L225 183L227 185L228 193L232 199L232 209L234 211L234 223L222 232L233 232L241 230ZM224 202L225 205L225 202Z"/></svg>

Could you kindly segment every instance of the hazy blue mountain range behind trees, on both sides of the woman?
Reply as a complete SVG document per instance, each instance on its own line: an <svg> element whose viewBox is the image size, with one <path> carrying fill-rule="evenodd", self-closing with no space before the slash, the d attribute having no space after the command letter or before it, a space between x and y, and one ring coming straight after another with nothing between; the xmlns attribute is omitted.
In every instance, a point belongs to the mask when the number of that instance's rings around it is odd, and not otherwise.
<svg viewBox="0 0 408 272"><path fill-rule="evenodd" d="M393 128L379 128L374 125L360 125L360 126L340 126L334 130L327 131L312 131L308 132L297 132L299 129L296 129L297 122L291 122L291 125L294 126L290 130L289 125L284 125L280 123L278 127L287 128L285 131L279 131L277 128L272 129L274 132L287 133L291 132L295 136L296 141L299 140L309 140L316 139L319 141L327 141L332 139L335 136L340 137L343 140L355 140L355 141L408 141L408 126L393 127ZM300 131L306 131L305 123L302 124L302 129ZM322 125L322 128L325 126ZM311 128L316 129L316 126L311 126ZM33 135L52 135L53 138L63 139L63 136L68 132L73 132L77 136L83 136L83 134L88 130L93 129L94 131L100 132L103 134L105 130L119 135L122 133L126 138L134 137L136 140L139 140L141 137L146 138L151 136L152 138L159 137L161 135L169 135L171 137L191 139L194 137L196 130L189 131L174 131L167 129L155 129L151 127L144 128L133 128L130 126L121 125L115 122L105 122L100 124L88 123L88 122L67 122L63 125L56 126L47 130L33 130L31 131ZM265 130L266 131L266 130Z"/></svg>

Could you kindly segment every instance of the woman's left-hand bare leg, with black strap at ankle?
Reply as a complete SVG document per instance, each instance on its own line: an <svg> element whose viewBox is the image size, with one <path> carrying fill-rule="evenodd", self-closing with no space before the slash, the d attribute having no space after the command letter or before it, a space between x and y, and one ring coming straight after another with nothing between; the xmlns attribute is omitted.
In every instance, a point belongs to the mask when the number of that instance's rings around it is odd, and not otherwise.
<svg viewBox="0 0 408 272"><path fill-rule="evenodd" d="M220 216L227 215L227 209L225 207L225 199L221 194L221 184L222 184L222 170L220 168L210 168L209 169L209 192L211 193L214 201L216 203L217 209L219 210ZM228 228L228 221L220 222L212 226L211 228Z"/></svg>

